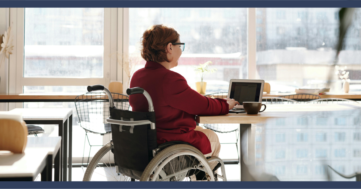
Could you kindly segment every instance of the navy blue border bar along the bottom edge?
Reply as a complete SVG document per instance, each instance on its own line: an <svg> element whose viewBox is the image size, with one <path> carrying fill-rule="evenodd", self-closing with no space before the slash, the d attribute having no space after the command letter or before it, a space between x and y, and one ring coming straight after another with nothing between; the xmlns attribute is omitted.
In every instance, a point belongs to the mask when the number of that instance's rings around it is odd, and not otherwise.
<svg viewBox="0 0 361 189"><path fill-rule="evenodd" d="M0 188L361 188L361 182L0 182Z"/></svg>

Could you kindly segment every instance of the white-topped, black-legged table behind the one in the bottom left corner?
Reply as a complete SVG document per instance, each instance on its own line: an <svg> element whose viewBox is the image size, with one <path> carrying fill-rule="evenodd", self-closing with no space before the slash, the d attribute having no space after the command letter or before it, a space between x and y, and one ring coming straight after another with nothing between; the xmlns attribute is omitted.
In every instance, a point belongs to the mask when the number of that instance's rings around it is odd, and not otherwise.
<svg viewBox="0 0 361 189"><path fill-rule="evenodd" d="M11 113L21 113L26 124L58 125L61 136L61 181L71 181L73 109L71 108L15 108ZM69 173L68 173L69 171ZM68 179L67 179L68 178Z"/></svg>

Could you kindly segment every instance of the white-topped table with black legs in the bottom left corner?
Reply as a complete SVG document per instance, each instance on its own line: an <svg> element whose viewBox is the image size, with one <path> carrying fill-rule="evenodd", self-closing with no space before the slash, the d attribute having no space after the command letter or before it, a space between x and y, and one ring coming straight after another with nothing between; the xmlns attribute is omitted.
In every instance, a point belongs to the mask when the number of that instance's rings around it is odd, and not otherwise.
<svg viewBox="0 0 361 189"><path fill-rule="evenodd" d="M60 180L61 137L28 137L24 153L0 155L0 181L34 181L41 173L42 181Z"/></svg>

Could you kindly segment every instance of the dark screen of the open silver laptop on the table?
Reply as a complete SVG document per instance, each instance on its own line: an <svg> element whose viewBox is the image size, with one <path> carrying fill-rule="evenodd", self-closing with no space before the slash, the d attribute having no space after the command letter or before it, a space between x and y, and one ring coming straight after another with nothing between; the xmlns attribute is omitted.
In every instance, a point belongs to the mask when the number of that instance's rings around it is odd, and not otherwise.
<svg viewBox="0 0 361 189"><path fill-rule="evenodd" d="M261 83L232 82L229 98L243 102L259 102Z"/></svg>

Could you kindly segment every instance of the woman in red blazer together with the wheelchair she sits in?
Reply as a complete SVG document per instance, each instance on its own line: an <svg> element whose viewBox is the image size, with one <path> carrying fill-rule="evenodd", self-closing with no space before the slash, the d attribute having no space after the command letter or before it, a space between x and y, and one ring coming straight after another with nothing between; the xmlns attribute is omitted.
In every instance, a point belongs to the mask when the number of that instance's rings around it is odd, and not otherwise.
<svg viewBox="0 0 361 189"><path fill-rule="evenodd" d="M141 55L147 63L134 73L131 89L127 89L132 111L110 106L111 117L106 121L113 123L112 141L92 158L84 181L94 180L92 175L100 162L110 162L110 150L116 172L123 177L118 179L114 171L108 171L108 180L227 180L223 161L218 158L218 136L196 126L195 115L227 114L239 103L229 98L205 97L191 89L183 76L170 70L178 65L184 50L179 36L174 28L164 25L153 25L143 33ZM110 95L103 86L89 87L89 92L104 90ZM111 99L110 95L109 104ZM219 167L222 175L217 175Z"/></svg>

